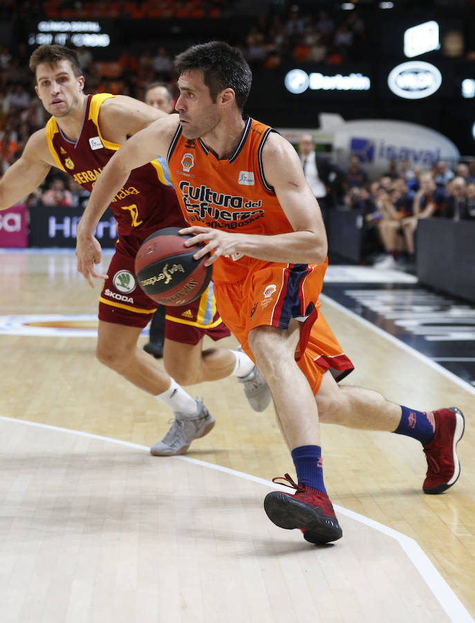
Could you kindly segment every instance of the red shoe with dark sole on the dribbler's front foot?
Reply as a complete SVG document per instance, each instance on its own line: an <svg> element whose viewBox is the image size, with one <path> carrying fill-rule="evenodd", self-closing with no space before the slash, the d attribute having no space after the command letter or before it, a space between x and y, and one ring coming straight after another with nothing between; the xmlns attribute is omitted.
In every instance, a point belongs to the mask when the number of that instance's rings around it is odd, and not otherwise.
<svg viewBox="0 0 475 623"><path fill-rule="evenodd" d="M309 543L330 543L341 539L342 528L328 496L306 485L297 485L288 473L284 478L272 478L272 482L284 479L290 485L282 484L296 489L296 492L272 491L266 495L264 509L270 521L286 530L299 528Z"/></svg>

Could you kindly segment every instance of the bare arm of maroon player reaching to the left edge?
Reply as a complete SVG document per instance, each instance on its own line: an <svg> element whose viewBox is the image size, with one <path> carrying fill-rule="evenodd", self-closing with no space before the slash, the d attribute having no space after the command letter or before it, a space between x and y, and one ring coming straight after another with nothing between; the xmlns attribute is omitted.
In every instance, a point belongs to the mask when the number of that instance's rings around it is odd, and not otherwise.
<svg viewBox="0 0 475 623"><path fill-rule="evenodd" d="M0 179L0 210L6 210L36 190L55 165L44 129L32 134L21 157Z"/></svg>

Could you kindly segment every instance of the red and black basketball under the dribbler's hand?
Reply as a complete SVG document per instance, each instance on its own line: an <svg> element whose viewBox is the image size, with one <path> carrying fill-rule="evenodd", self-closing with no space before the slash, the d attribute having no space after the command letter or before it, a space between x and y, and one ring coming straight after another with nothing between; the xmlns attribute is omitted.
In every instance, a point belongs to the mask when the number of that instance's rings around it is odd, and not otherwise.
<svg viewBox="0 0 475 623"><path fill-rule="evenodd" d="M192 235L180 235L179 227L159 229L142 242L136 255L140 288L160 305L187 305L203 294L212 276L204 263L209 253L195 260L200 245L185 246Z"/></svg>

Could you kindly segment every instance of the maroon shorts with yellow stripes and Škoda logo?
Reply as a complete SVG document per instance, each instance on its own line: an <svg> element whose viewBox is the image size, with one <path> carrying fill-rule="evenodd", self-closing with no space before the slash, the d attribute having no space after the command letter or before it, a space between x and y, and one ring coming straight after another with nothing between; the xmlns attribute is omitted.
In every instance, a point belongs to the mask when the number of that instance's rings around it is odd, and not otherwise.
<svg viewBox="0 0 475 623"><path fill-rule="evenodd" d="M138 285L131 253L116 250L99 298L99 320L127 327L146 327L157 304ZM189 305L167 307L165 337L183 344L197 344L208 335L220 340L230 335L216 309L213 284Z"/></svg>

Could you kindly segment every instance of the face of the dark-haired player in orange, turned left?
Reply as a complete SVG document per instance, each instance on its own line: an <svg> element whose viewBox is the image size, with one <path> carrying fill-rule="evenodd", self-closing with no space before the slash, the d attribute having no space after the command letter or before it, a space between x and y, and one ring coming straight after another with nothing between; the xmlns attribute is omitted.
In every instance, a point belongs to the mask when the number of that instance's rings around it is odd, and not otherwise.
<svg viewBox="0 0 475 623"><path fill-rule="evenodd" d="M193 69L180 75L178 89L180 97L175 109L180 116L183 136L198 138L212 132L221 120L219 96L216 102L212 101L203 72Z"/></svg>

